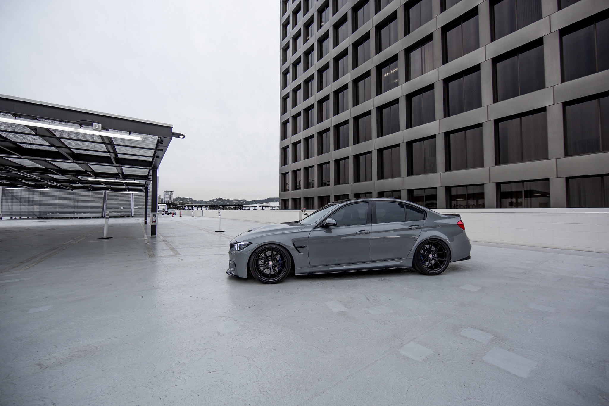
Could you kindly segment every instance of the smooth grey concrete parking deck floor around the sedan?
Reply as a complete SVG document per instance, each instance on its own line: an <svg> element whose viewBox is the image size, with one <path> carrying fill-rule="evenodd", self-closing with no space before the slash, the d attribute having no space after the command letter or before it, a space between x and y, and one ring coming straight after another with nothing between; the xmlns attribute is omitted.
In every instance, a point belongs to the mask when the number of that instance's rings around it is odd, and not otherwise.
<svg viewBox="0 0 609 406"><path fill-rule="evenodd" d="M225 274L261 223L0 222L2 405L607 405L609 254L476 243L440 276Z"/></svg>

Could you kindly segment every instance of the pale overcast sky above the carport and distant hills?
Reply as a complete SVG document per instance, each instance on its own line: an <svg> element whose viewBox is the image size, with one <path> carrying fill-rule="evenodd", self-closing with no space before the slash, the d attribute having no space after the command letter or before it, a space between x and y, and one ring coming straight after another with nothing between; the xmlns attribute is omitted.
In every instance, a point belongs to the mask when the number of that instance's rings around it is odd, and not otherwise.
<svg viewBox="0 0 609 406"><path fill-rule="evenodd" d="M174 125L175 197L278 197L279 7L1 0L0 94Z"/></svg>

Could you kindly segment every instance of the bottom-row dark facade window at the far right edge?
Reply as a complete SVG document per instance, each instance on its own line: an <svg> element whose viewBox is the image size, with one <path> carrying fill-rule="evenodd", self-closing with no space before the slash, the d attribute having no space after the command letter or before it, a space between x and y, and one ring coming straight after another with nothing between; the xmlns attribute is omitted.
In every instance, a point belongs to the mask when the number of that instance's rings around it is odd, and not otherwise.
<svg viewBox="0 0 609 406"><path fill-rule="evenodd" d="M609 175L569 178L567 197L569 207L609 207Z"/></svg>

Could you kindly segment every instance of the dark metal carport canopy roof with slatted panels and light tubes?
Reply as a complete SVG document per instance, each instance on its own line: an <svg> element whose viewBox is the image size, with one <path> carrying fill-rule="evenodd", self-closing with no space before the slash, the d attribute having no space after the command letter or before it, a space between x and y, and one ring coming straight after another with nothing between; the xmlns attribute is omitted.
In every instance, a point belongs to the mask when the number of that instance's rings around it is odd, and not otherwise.
<svg viewBox="0 0 609 406"><path fill-rule="evenodd" d="M0 95L0 187L144 192L171 139L184 138L171 130Z"/></svg>

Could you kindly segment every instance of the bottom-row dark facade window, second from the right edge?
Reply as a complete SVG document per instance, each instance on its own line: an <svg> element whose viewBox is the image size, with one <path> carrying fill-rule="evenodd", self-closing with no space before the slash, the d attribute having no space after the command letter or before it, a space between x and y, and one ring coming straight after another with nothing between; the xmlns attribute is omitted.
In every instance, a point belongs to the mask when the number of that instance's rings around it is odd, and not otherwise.
<svg viewBox="0 0 609 406"><path fill-rule="evenodd" d="M550 207L550 181L502 183L499 185L502 209L543 209Z"/></svg>

